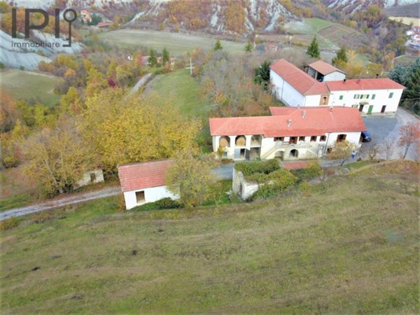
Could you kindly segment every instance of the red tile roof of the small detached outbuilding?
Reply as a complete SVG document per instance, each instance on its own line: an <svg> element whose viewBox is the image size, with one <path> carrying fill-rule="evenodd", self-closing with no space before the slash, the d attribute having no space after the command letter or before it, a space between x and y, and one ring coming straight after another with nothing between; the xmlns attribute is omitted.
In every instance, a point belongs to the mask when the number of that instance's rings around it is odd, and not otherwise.
<svg viewBox="0 0 420 315"><path fill-rule="evenodd" d="M167 168L173 164L174 160L160 160L121 165L118 167L121 189L127 192L165 186Z"/></svg>

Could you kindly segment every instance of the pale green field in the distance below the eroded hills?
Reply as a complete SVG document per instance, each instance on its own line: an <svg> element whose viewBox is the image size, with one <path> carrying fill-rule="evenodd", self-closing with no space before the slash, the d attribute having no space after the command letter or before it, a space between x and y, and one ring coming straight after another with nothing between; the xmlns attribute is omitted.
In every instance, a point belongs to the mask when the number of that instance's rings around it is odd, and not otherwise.
<svg viewBox="0 0 420 315"><path fill-rule="evenodd" d="M188 34L168 33L165 31L145 31L139 29L117 29L99 34L99 38L111 43L128 47L147 47L161 52L167 48L171 55L179 56L194 48L202 47L204 50L213 48L213 38L199 37ZM223 48L230 52L244 51L244 43L221 41Z"/></svg>

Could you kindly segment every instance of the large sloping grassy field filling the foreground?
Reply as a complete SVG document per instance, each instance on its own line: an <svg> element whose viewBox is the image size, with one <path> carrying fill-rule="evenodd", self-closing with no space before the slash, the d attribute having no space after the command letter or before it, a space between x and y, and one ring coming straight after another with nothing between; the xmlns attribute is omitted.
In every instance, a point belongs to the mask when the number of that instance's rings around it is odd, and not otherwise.
<svg viewBox="0 0 420 315"><path fill-rule="evenodd" d="M357 171L264 202L31 216L0 233L1 313L418 314L418 165Z"/></svg>

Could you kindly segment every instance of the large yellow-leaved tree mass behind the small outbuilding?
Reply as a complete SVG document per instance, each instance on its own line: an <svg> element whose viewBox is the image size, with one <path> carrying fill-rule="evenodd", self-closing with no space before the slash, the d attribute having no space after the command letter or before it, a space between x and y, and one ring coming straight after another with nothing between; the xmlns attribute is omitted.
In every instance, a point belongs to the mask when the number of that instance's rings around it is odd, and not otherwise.
<svg viewBox="0 0 420 315"><path fill-rule="evenodd" d="M186 120L169 104L154 94L126 99L118 88L87 98L80 127L106 172L125 163L170 158L183 148L197 152L200 123Z"/></svg>

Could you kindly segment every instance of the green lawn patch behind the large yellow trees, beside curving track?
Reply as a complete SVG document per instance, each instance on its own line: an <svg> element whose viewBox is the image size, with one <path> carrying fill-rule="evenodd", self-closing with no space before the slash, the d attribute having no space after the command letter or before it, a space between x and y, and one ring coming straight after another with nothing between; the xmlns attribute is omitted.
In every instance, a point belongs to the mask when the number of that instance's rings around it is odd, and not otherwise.
<svg viewBox="0 0 420 315"><path fill-rule="evenodd" d="M167 97L185 116L204 117L209 110L208 102L200 93L200 83L186 69L156 76L146 88Z"/></svg>

